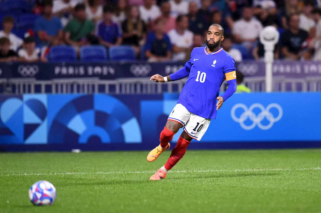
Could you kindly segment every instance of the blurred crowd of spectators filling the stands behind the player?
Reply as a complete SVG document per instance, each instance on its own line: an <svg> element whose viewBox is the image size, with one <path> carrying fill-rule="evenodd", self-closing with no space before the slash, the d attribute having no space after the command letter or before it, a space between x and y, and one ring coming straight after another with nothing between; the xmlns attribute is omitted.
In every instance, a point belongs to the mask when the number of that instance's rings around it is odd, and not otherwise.
<svg viewBox="0 0 321 213"><path fill-rule="evenodd" d="M0 62L46 62L59 45L130 45L137 59L186 61L206 46L214 23L225 29L221 46L235 61L262 60L259 34L271 25L280 32L275 59L321 60L321 0L24 1L31 5L27 28L19 28L21 14L1 12Z"/></svg>

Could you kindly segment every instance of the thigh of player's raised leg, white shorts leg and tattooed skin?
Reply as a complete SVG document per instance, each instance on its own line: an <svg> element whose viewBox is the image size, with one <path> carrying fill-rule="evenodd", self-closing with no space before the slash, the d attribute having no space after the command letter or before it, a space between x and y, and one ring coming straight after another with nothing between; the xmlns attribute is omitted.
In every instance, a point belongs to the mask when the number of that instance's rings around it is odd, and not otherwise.
<svg viewBox="0 0 321 213"><path fill-rule="evenodd" d="M177 104L167 118L166 128L176 133L185 126L191 113L181 104Z"/></svg>

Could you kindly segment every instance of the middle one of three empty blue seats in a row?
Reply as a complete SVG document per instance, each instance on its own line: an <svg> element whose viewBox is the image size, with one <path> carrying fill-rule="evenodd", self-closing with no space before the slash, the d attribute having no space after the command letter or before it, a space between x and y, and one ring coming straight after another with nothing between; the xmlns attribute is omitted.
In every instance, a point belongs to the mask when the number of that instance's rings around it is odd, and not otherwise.
<svg viewBox="0 0 321 213"><path fill-rule="evenodd" d="M82 61L106 61L107 51L104 46L93 45L83 46L79 50L80 60Z"/></svg>

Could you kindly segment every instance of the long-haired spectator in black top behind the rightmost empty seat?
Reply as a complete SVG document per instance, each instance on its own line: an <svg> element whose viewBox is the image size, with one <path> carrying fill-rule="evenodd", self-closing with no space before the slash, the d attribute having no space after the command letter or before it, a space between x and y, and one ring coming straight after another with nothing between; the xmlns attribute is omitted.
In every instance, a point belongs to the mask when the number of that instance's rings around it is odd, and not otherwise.
<svg viewBox="0 0 321 213"><path fill-rule="evenodd" d="M146 37L146 25L140 19L138 6L131 6L128 18L122 23L123 44L132 45L139 53L139 46Z"/></svg>

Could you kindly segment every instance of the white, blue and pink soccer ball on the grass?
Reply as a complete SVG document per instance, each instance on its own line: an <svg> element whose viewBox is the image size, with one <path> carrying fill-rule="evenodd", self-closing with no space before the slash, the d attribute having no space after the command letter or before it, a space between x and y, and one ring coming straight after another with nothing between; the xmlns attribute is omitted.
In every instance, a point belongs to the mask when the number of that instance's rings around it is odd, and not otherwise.
<svg viewBox="0 0 321 213"><path fill-rule="evenodd" d="M56 196L55 186L45 180L33 184L29 190L29 199L36 206L52 205Z"/></svg>

